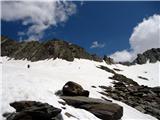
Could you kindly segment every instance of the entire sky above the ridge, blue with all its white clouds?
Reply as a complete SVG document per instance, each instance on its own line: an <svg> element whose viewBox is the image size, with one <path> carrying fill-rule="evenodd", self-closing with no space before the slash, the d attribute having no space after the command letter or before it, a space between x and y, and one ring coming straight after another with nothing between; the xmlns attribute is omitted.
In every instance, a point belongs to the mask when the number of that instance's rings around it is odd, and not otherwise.
<svg viewBox="0 0 160 120"><path fill-rule="evenodd" d="M160 48L158 1L1 3L2 34L15 39L62 38L115 61Z"/></svg>

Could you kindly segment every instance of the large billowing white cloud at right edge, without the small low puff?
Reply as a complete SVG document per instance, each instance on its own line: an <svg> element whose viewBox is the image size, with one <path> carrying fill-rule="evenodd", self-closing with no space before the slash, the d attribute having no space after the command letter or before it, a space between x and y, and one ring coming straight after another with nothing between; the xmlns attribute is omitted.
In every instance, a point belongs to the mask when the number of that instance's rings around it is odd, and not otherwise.
<svg viewBox="0 0 160 120"><path fill-rule="evenodd" d="M134 28L130 37L131 49L136 53L142 53L150 48L160 47L160 15L153 15L144 19Z"/></svg>

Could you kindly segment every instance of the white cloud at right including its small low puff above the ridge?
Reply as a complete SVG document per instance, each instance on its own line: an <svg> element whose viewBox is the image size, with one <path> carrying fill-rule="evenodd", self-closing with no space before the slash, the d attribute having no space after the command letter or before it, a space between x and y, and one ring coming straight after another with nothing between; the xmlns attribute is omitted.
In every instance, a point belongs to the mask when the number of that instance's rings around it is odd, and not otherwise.
<svg viewBox="0 0 160 120"><path fill-rule="evenodd" d="M116 62L132 61L138 53L160 48L160 15L144 19L133 30L129 39L130 51L123 50L110 55Z"/></svg>

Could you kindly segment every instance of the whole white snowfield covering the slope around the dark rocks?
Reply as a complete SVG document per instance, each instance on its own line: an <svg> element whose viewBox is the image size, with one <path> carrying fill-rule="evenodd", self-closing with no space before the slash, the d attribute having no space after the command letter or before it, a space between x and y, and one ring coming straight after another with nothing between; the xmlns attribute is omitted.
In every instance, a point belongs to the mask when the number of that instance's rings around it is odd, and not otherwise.
<svg viewBox="0 0 160 120"><path fill-rule="evenodd" d="M105 62L99 63L84 59L75 59L73 62L61 59L30 62L27 60L9 60L7 57L2 57L1 61L1 76L3 74L2 80L0 80L1 96L3 96L0 103L2 107L0 111L1 114L14 111L14 109L9 106L9 103L19 100L47 102L54 107L61 108L62 105L59 104L58 101L63 100L56 96L55 92L61 90L63 85L68 81L74 81L82 85L84 89L89 90L90 97L101 98L103 95L98 92L101 92L102 89L98 86L112 86L113 80L108 77L113 76L113 74L97 68L96 66L99 65L104 65L112 69L120 69L122 71L116 72L132 78L141 85L144 84L152 87L160 86L160 78L158 76L160 74L159 62L127 67L119 64L107 65ZM28 64L30 68L27 68ZM143 76L149 80L143 80L137 76ZM91 86L96 86L96 88ZM157 120L122 102L111 100L123 106L124 114L122 120ZM62 116L65 120L99 120L99 118L86 110L77 109L68 105L65 107L66 109L61 108ZM65 112L75 117L68 118Z"/></svg>

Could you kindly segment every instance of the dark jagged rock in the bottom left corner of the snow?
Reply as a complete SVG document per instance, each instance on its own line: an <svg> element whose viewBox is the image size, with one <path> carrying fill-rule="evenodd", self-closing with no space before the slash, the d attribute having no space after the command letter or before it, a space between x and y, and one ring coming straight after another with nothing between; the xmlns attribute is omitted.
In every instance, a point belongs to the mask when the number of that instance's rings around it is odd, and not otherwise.
<svg viewBox="0 0 160 120"><path fill-rule="evenodd" d="M11 103L16 109L14 113L5 113L7 120L62 120L61 109L47 103L35 101L19 101Z"/></svg>

